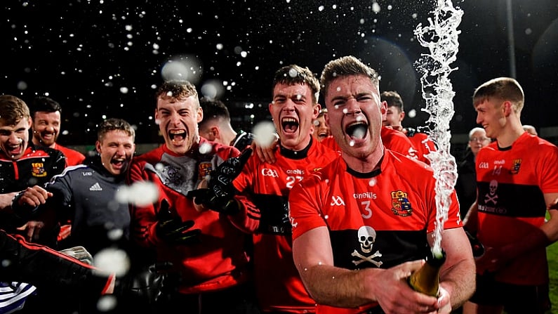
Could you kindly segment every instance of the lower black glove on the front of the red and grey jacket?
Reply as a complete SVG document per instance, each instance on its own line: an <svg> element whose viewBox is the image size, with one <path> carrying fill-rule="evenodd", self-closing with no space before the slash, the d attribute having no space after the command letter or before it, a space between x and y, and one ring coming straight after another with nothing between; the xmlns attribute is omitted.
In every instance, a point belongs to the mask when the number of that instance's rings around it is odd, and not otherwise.
<svg viewBox="0 0 558 314"><path fill-rule="evenodd" d="M159 222L155 226L155 233L164 241L171 244L194 244L199 243L199 234L201 230L194 229L188 231L194 226L194 221L182 221L180 217L173 217L168 209L168 201L163 199L161 207L157 214Z"/></svg>

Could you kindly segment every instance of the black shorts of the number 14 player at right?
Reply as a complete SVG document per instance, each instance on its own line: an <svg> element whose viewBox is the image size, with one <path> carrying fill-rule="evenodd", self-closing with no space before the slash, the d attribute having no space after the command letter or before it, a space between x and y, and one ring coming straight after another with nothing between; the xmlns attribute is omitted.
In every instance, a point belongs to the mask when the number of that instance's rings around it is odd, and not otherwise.
<svg viewBox="0 0 558 314"><path fill-rule="evenodd" d="M550 308L548 284L507 284L494 280L493 275L477 275L477 290L469 301L481 306L504 306L508 314L545 313Z"/></svg>

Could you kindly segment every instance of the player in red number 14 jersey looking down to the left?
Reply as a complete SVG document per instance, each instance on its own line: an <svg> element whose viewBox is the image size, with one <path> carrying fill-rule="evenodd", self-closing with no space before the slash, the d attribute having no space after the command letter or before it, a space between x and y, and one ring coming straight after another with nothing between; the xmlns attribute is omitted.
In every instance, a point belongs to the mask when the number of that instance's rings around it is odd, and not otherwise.
<svg viewBox="0 0 558 314"><path fill-rule="evenodd" d="M463 313L545 313L546 247L558 240L558 148L524 131L516 79L486 81L472 100L494 141L475 159L477 200L464 223L486 251L475 260L477 287Z"/></svg>

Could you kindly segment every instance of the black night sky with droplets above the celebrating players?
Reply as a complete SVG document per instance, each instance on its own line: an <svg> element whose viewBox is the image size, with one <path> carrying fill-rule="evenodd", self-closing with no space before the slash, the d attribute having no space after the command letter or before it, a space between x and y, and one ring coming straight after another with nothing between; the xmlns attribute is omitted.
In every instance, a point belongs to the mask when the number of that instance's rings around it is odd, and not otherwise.
<svg viewBox="0 0 558 314"><path fill-rule="evenodd" d="M524 124L554 140L558 124L558 1L512 0L516 78L526 93ZM378 70L380 90L404 98L404 126L427 114L414 63L413 30L435 1L124 1L4 0L0 18L0 93L30 102L48 95L63 107L59 141L92 145L96 125L121 117L138 126L137 143L160 143L153 93L161 73L187 64L198 91L222 89L233 126L268 119L275 70L296 63L320 74L331 59L355 55ZM451 133L476 126L472 91L511 76L506 0L453 1L463 9ZM380 8L380 11L377 10ZM180 61L180 62L179 62ZM207 89L213 86L213 89ZM251 104L253 107L251 107ZM246 105L248 105L246 108ZM253 115L253 117L251 117Z"/></svg>

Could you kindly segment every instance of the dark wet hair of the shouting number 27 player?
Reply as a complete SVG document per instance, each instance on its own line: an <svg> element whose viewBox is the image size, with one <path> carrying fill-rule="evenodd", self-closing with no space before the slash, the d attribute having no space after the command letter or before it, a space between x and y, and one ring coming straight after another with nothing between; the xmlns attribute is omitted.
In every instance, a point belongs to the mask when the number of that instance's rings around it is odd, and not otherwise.
<svg viewBox="0 0 558 314"><path fill-rule="evenodd" d="M277 84L295 85L304 84L312 91L312 100L318 103L319 80L308 67L298 65L286 65L275 72L273 77L272 92Z"/></svg>

